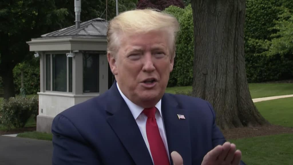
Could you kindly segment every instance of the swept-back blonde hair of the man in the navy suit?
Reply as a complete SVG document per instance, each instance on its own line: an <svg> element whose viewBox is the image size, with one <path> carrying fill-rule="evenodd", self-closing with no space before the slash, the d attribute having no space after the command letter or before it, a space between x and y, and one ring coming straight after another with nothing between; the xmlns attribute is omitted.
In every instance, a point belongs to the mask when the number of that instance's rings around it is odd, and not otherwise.
<svg viewBox="0 0 293 165"><path fill-rule="evenodd" d="M166 30L170 38L171 58L175 57L176 34L179 31L178 20L169 14L154 9L126 11L113 18L107 31L107 51L114 55L119 48L119 36L122 34L148 33Z"/></svg>

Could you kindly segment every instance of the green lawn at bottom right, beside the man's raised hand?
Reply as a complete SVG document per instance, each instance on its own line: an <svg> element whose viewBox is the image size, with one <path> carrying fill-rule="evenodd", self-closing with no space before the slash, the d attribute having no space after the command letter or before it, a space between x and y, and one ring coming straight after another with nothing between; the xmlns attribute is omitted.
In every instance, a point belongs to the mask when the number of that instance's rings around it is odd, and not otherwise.
<svg viewBox="0 0 293 165"><path fill-rule="evenodd" d="M242 160L249 165L292 165L293 134L230 140L242 152Z"/></svg>

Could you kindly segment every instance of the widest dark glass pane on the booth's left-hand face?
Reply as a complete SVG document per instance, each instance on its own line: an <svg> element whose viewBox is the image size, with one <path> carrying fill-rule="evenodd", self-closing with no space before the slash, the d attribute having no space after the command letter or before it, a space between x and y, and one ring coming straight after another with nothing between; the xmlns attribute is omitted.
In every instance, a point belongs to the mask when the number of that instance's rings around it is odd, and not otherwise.
<svg viewBox="0 0 293 165"><path fill-rule="evenodd" d="M67 57L66 54L53 54L53 91L67 91Z"/></svg>

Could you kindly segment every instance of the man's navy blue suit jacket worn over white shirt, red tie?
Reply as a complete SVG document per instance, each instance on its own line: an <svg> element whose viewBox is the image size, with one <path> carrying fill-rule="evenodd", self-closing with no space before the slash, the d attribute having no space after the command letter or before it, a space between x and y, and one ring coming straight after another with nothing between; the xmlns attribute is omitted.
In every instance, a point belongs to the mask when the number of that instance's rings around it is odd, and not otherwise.
<svg viewBox="0 0 293 165"><path fill-rule="evenodd" d="M161 106L169 154L177 151L184 165L201 164L208 151L225 142L212 106L205 100L166 93ZM178 119L177 114L186 119ZM152 164L116 83L103 95L57 115L52 133L54 165Z"/></svg>

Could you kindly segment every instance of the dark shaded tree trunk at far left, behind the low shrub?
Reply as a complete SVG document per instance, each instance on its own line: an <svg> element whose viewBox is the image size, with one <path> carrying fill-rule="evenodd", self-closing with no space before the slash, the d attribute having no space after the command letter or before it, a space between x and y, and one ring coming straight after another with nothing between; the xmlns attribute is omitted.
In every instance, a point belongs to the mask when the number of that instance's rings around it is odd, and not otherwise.
<svg viewBox="0 0 293 165"><path fill-rule="evenodd" d="M4 87L4 99L8 100L10 97L15 97L14 83L13 83L13 69L7 68L2 75Z"/></svg>

